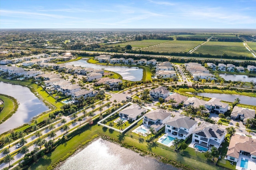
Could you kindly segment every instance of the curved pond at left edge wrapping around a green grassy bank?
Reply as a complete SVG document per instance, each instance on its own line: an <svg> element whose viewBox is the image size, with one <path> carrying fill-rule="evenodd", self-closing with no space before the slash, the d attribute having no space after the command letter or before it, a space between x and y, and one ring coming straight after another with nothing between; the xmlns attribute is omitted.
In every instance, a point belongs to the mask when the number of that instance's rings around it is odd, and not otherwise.
<svg viewBox="0 0 256 170"><path fill-rule="evenodd" d="M0 124L0 134L25 123L29 123L33 117L49 110L28 87L12 85L0 81L0 93L14 97L19 103L16 113L7 121Z"/></svg>

